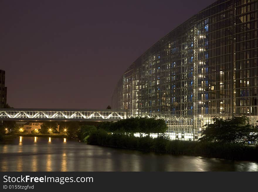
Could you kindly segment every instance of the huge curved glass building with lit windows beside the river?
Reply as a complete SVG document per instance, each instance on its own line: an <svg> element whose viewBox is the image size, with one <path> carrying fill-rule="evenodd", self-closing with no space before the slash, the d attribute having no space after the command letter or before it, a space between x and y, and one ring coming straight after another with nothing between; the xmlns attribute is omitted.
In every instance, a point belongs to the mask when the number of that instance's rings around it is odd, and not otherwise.
<svg viewBox="0 0 258 192"><path fill-rule="evenodd" d="M218 116L258 119L258 1L219 0L161 38L118 81L112 107L166 119L171 139L197 140Z"/></svg>

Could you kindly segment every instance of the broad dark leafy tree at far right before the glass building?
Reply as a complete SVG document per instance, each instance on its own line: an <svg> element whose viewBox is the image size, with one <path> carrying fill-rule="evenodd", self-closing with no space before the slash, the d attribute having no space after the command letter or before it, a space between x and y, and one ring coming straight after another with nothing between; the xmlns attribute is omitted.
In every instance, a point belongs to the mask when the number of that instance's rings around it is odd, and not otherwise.
<svg viewBox="0 0 258 192"><path fill-rule="evenodd" d="M205 129L202 130L199 141L239 144L258 141L258 129L248 124L247 117L227 120L214 117L212 121L213 123L204 125Z"/></svg>

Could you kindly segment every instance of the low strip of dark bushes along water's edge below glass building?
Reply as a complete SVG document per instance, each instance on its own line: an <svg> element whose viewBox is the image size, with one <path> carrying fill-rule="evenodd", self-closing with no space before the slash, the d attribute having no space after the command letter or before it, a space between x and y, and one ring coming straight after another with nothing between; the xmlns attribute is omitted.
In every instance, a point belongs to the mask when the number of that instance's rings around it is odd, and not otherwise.
<svg viewBox="0 0 258 192"><path fill-rule="evenodd" d="M125 148L140 151L154 151L174 155L194 155L231 160L258 161L258 146L224 143L172 141L151 137L135 137L124 134L108 134L104 130L92 132L86 137L91 145Z"/></svg>

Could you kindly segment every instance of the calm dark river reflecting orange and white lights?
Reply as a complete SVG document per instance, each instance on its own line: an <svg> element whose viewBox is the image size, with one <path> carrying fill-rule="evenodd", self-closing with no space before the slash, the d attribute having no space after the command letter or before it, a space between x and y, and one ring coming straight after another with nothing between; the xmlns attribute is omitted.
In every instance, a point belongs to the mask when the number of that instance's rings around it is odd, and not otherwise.
<svg viewBox="0 0 258 192"><path fill-rule="evenodd" d="M257 162L144 153L42 137L0 144L0 163L0 171L258 171Z"/></svg>

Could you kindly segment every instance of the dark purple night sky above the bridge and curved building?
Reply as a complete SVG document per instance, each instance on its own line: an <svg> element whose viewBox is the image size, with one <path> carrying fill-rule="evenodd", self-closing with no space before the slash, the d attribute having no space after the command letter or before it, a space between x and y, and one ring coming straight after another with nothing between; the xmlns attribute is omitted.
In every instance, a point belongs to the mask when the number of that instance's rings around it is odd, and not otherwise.
<svg viewBox="0 0 258 192"><path fill-rule="evenodd" d="M122 73L215 0L0 1L0 69L14 108L101 109Z"/></svg>

